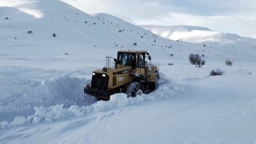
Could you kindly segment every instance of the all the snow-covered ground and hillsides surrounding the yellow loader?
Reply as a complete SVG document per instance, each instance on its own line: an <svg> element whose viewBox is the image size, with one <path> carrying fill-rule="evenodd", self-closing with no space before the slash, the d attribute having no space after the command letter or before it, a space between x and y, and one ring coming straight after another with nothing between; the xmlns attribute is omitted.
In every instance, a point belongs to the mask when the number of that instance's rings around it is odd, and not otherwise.
<svg viewBox="0 0 256 144"><path fill-rule="evenodd" d="M256 40L178 27L172 41L57 0L1 1L0 143L256 143ZM149 51L158 89L109 102L83 94L118 50Z"/></svg>

